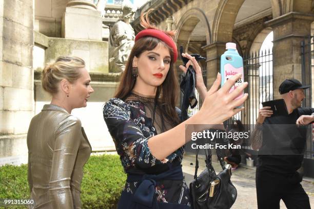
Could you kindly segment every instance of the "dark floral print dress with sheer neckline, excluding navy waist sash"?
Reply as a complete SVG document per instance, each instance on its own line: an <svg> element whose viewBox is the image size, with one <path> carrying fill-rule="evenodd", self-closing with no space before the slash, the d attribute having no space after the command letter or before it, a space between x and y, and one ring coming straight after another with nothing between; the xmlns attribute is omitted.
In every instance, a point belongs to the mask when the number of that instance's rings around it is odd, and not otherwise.
<svg viewBox="0 0 314 209"><path fill-rule="evenodd" d="M124 100L112 98L104 106L104 120L126 173L159 174L181 164L184 147L161 161L151 154L147 145L150 137L175 126L164 117L161 108L155 106L154 98L137 92ZM176 108L176 111L180 117L181 110ZM123 190L133 194L136 184L127 182ZM190 205L185 180L161 180L155 187L155 196L160 202Z"/></svg>

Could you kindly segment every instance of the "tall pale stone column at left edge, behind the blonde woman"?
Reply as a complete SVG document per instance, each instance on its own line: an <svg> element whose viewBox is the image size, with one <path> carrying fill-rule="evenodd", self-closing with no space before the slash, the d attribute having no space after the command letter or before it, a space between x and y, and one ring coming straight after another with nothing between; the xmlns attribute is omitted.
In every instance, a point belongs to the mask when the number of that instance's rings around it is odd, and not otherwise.
<svg viewBox="0 0 314 209"><path fill-rule="evenodd" d="M34 115L33 18L33 0L0 1L0 165L3 157L27 154Z"/></svg>

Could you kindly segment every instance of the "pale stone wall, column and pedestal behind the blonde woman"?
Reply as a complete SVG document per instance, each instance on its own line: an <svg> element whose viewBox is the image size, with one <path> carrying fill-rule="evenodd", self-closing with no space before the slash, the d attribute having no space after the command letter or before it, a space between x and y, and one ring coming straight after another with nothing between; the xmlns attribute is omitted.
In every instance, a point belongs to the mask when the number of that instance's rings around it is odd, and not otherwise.
<svg viewBox="0 0 314 209"><path fill-rule="evenodd" d="M41 71L65 54L85 60L95 90L88 107L72 113L85 121L94 150L113 149L102 116L118 78L108 74L108 41L103 41L103 21L111 19L102 18L92 0L0 1L0 165L27 162L30 120L51 100L42 89Z"/></svg>

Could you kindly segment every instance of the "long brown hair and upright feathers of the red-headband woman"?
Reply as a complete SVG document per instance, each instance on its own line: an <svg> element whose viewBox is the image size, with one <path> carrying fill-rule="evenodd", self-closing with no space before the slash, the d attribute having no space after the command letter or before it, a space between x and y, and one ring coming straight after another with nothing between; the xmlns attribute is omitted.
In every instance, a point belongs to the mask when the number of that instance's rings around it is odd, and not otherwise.
<svg viewBox="0 0 314 209"><path fill-rule="evenodd" d="M145 17L144 13L141 14L141 26L143 26L145 29L159 30L156 27L152 26L149 22L148 14L150 11L151 10L148 10ZM173 35L175 35L174 31L163 32L170 37L173 37ZM158 102L158 105L164 106L164 108L162 109L164 109L165 112L163 113L168 119L173 121L175 124L179 124L180 119L175 111L175 104L179 98L179 82L178 78L176 78L173 67L173 51L165 42L158 38L146 36L140 38L134 43L134 46L126 63L125 71L121 76L120 84L114 97L119 99L125 99L130 94L136 82L136 79L132 77L133 58L140 57L144 51L153 50L155 47L157 47L158 44L163 44L167 49L169 49L171 61L170 68L164 82L157 87L155 101Z"/></svg>

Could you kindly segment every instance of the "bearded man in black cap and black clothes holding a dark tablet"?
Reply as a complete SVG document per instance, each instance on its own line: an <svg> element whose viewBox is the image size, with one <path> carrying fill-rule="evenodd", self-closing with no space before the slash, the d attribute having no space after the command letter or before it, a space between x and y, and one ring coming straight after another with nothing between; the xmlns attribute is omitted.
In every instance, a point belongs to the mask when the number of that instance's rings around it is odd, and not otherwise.
<svg viewBox="0 0 314 209"><path fill-rule="evenodd" d="M279 92L288 114L271 117L270 107L259 110L251 134L251 146L259 150L256 170L259 209L279 209L281 199L288 209L310 209L308 196L300 184L302 177L297 172L302 165L306 128L296 125L314 120L314 109L301 107L304 90L309 87L296 79L286 79Z"/></svg>

